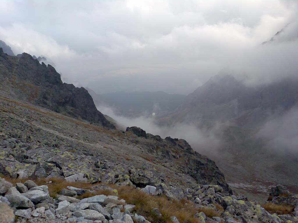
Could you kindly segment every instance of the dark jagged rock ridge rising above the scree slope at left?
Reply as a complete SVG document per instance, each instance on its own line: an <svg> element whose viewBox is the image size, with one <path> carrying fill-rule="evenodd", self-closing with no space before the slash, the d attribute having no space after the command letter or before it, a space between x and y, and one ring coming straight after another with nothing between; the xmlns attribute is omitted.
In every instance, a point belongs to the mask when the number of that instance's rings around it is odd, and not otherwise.
<svg viewBox="0 0 298 223"><path fill-rule="evenodd" d="M0 50L0 65L3 90L13 91L19 98L55 112L115 128L96 109L86 89L63 83L51 65L40 64L26 53L20 57L8 56L3 49Z"/></svg>

